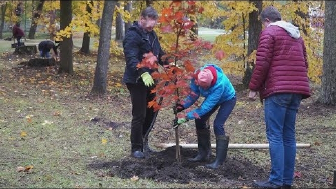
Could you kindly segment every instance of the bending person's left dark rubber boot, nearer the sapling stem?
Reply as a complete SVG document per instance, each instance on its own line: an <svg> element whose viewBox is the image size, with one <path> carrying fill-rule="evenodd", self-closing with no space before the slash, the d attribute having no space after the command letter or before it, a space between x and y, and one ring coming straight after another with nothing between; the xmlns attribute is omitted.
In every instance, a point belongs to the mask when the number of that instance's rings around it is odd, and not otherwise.
<svg viewBox="0 0 336 189"><path fill-rule="evenodd" d="M208 161L211 155L211 142L210 142L210 130L196 130L197 144L199 152L195 158L189 158L189 162L202 162Z"/></svg>

